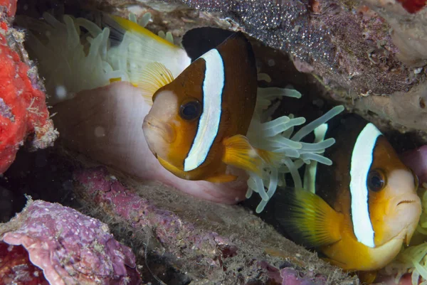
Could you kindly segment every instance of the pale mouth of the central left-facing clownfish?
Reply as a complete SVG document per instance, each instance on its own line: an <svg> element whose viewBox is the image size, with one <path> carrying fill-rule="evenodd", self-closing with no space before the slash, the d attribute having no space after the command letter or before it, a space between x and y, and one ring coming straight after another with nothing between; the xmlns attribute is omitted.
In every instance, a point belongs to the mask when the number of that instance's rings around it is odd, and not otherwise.
<svg viewBox="0 0 427 285"><path fill-rule="evenodd" d="M154 146L154 144L158 143L159 136L168 144L171 144L175 140L174 128L170 124L160 122L150 115L144 118L142 130L149 145L152 144ZM151 149L152 146L149 147Z"/></svg>

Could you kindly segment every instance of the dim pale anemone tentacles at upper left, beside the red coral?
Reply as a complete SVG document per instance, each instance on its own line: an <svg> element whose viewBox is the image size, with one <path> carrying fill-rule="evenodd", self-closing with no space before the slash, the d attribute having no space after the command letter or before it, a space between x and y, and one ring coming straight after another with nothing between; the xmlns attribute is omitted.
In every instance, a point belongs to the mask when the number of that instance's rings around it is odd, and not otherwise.
<svg viewBox="0 0 427 285"><path fill-rule="evenodd" d="M46 77L50 104L71 99L81 90L110 84L110 78L116 77L117 72L105 60L109 28L101 30L90 21L68 15L63 16L63 22L48 13L43 18L44 22L26 17L18 21L31 31L28 51L32 58L43 58L38 68ZM80 27L88 33L82 35ZM65 89L65 94L56 92L58 87Z"/></svg>

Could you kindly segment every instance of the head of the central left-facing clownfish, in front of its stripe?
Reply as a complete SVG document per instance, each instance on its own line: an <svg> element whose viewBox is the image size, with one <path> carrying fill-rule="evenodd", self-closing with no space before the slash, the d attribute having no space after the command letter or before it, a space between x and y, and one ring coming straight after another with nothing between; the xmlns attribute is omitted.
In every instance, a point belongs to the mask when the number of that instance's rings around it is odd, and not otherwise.
<svg viewBox="0 0 427 285"><path fill-rule="evenodd" d="M184 179L192 179L184 171L202 112L201 61L196 60L181 75L153 95L153 105L142 129L154 156L167 170Z"/></svg>

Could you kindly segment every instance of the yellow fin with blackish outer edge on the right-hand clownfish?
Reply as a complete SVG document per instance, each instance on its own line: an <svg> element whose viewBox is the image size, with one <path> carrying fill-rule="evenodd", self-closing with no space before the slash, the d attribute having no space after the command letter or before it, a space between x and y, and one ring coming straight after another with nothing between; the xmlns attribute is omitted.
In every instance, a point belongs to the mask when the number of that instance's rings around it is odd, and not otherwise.
<svg viewBox="0 0 427 285"><path fill-rule="evenodd" d="M292 240L307 247L321 247L341 239L337 213L318 195L307 190L283 189L283 201L277 205L278 221Z"/></svg>

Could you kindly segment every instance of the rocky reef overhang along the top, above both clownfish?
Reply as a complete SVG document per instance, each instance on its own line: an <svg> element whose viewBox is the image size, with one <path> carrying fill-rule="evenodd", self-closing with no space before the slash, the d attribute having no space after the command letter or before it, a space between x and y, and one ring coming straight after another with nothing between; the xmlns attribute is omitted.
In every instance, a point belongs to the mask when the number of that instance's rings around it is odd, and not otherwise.
<svg viewBox="0 0 427 285"><path fill-rule="evenodd" d="M292 74L298 70L318 96L344 104L381 130L411 132L426 141L426 1L80 2L137 16L149 11L149 28L178 39L194 26L244 31L288 55L296 68L280 72L283 65L265 54L260 68L272 75L270 85L302 84L302 76Z"/></svg>

